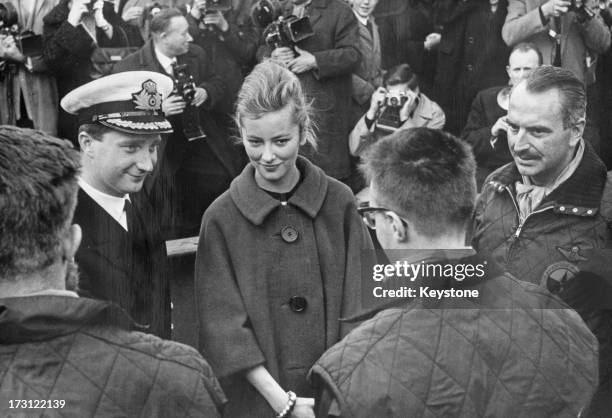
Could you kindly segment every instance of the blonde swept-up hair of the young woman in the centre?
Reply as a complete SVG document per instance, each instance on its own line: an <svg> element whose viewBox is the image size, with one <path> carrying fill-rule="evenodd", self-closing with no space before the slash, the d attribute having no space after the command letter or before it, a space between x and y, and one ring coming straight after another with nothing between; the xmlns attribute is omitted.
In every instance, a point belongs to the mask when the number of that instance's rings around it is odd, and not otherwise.
<svg viewBox="0 0 612 418"><path fill-rule="evenodd" d="M255 66L244 79L236 101L236 124L243 119L259 119L267 113L291 106L294 122L300 127L301 139L316 149L312 105L300 80L288 69L267 60Z"/></svg>

